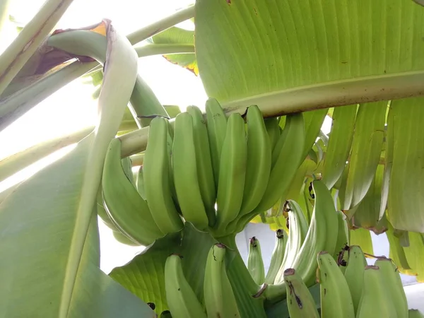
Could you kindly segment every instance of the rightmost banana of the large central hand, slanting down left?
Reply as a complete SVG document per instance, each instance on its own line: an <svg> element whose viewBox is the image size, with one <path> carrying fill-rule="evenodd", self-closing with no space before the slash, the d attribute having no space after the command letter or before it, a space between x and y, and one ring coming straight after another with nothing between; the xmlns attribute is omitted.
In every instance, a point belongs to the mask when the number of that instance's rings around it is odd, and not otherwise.
<svg viewBox="0 0 424 318"><path fill-rule="evenodd" d="M288 191L290 182L304 159L302 158L304 146L303 114L287 115L283 132L273 149L271 174L264 196L254 211L259 213L268 210Z"/></svg>

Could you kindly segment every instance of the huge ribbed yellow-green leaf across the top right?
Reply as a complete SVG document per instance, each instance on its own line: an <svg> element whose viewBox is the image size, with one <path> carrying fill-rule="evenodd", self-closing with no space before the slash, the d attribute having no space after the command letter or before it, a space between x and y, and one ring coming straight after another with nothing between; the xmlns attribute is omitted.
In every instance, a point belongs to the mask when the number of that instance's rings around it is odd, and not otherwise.
<svg viewBox="0 0 424 318"><path fill-rule="evenodd" d="M422 93L423 21L411 0L197 0L196 57L230 112L390 100Z"/></svg>

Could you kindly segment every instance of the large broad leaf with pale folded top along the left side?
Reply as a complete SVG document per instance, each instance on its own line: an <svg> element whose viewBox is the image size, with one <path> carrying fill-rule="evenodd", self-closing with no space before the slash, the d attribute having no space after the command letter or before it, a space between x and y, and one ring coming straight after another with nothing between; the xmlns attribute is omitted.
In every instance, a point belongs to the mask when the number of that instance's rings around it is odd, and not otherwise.
<svg viewBox="0 0 424 318"><path fill-rule="evenodd" d="M105 52L98 51L105 78L95 131L0 204L0 317L153 317L146 304L98 268L93 208L137 62L128 40L110 23L105 28ZM123 79L113 81L117 76Z"/></svg>

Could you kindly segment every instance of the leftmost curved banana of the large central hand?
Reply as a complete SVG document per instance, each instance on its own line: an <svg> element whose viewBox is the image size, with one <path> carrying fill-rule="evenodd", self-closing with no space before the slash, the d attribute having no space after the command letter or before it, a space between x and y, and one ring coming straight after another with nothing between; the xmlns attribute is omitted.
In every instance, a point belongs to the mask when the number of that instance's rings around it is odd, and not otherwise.
<svg viewBox="0 0 424 318"><path fill-rule="evenodd" d="M102 174L102 196L108 216L126 237L140 245L151 245L163 237L148 204L124 172L119 139L112 139L107 148Z"/></svg>

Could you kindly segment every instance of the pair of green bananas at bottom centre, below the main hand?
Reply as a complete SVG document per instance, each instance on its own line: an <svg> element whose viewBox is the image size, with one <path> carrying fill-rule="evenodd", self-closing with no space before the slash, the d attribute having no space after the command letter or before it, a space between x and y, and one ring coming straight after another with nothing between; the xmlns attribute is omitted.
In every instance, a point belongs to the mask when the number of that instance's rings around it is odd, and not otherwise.
<svg viewBox="0 0 424 318"><path fill-rule="evenodd" d="M167 305L173 318L240 318L235 295L225 269L226 250L225 245L220 243L213 245L209 250L204 276L204 305L199 302L184 276L181 257L178 254L167 257L165 291Z"/></svg>

